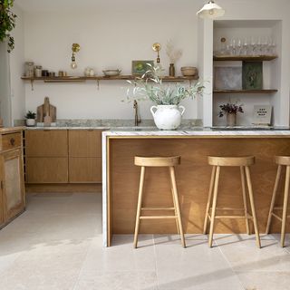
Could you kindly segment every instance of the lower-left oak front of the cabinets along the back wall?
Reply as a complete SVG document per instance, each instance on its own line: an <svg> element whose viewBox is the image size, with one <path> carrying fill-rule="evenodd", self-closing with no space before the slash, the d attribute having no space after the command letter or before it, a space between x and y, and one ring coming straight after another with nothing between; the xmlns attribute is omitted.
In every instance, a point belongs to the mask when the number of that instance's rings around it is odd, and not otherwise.
<svg viewBox="0 0 290 290"><path fill-rule="evenodd" d="M68 182L68 158L26 158L27 183Z"/></svg>

